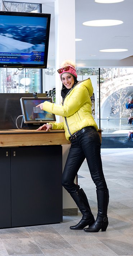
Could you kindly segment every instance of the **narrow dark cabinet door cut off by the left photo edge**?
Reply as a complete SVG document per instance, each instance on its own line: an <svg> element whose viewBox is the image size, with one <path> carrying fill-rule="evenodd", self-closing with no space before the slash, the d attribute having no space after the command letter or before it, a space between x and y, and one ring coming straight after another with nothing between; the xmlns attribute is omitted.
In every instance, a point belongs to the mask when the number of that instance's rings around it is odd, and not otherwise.
<svg viewBox="0 0 133 256"><path fill-rule="evenodd" d="M0 228L11 227L10 148L0 148Z"/></svg>

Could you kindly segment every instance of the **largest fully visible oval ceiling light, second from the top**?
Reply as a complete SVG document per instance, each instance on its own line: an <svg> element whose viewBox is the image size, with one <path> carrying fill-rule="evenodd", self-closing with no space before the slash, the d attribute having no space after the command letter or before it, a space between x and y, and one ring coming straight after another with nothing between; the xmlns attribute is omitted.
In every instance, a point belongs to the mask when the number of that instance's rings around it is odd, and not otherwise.
<svg viewBox="0 0 133 256"><path fill-rule="evenodd" d="M115 26L122 24L121 20L90 20L83 22L85 26L94 26L94 27L102 27L102 26Z"/></svg>

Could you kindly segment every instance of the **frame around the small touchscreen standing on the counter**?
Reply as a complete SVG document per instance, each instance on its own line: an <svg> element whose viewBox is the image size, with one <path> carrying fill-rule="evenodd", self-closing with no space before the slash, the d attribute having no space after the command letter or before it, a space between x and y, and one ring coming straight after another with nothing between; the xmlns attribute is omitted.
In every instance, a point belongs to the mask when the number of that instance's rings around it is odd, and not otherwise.
<svg viewBox="0 0 133 256"><path fill-rule="evenodd" d="M46 119L46 120L28 120L27 119L27 114L26 114L26 106L24 104L24 100L44 100L44 101L49 101L51 103L53 103L52 101L52 98L51 97L38 97L38 98L34 98L34 97L22 97L20 98L20 105L21 105L21 109L22 109L22 115L23 115L23 122L24 123L40 123L41 124L44 124L44 123L52 123L52 122L55 122L56 121L56 117L55 117L55 114L52 114L52 120L49 120L49 119Z"/></svg>

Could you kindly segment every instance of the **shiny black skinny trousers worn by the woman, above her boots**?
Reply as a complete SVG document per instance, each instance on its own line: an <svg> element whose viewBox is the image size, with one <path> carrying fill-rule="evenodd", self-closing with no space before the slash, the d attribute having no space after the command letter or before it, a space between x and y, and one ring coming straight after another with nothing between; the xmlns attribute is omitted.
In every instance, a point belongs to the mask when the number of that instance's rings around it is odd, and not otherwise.
<svg viewBox="0 0 133 256"><path fill-rule="evenodd" d="M79 190L79 186L74 184L74 179L85 158L96 189L107 189L102 170L100 148L100 136L98 132L91 127L77 138L72 139L62 177L62 185L70 194Z"/></svg>

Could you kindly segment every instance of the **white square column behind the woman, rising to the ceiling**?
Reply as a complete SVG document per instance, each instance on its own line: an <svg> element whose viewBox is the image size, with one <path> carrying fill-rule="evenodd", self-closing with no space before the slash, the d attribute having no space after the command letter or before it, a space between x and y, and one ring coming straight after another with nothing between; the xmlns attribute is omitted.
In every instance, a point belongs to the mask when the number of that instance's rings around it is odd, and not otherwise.
<svg viewBox="0 0 133 256"><path fill-rule="evenodd" d="M58 70L65 59L75 62L75 0L55 0L55 68ZM61 104L60 95L62 83L58 72L55 75L56 103ZM62 122L62 117L57 118ZM63 145L63 168L69 151L68 145ZM63 209L77 208L72 197L63 189Z"/></svg>

